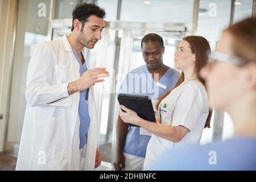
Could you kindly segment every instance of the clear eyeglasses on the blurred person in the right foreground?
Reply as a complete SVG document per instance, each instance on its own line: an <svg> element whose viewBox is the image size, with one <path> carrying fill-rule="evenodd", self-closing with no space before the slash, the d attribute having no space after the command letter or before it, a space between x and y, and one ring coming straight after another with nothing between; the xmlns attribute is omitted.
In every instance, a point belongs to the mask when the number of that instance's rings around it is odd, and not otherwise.
<svg viewBox="0 0 256 182"><path fill-rule="evenodd" d="M208 63L216 63L216 61L232 63L236 65L245 65L247 63L247 61L245 59L242 59L241 57L213 51L209 54Z"/></svg>

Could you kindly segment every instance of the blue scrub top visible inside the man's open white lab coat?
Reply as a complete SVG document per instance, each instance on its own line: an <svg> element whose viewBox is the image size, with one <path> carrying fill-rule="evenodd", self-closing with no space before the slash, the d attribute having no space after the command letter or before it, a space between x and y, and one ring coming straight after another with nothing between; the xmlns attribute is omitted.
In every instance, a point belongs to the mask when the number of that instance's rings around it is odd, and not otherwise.
<svg viewBox="0 0 256 182"><path fill-rule="evenodd" d="M72 51L76 56L77 61L80 65L80 76L82 73L87 71L84 55L81 52L82 59L84 60L84 64L81 63L79 56L76 53L76 50L72 47ZM80 146L82 148L87 143L87 133L90 126L90 116L87 106L89 89L80 92L80 100L79 100L79 118L80 118L80 127L79 127L79 136L80 136Z"/></svg>

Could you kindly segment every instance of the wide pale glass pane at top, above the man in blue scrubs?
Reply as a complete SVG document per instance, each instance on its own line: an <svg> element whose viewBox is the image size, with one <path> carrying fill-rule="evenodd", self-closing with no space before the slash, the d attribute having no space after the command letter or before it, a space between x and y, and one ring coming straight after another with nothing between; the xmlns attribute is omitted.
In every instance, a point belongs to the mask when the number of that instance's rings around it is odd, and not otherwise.
<svg viewBox="0 0 256 182"><path fill-rule="evenodd" d="M182 14L181 14L182 11ZM193 0L123 0L121 20L192 23Z"/></svg>

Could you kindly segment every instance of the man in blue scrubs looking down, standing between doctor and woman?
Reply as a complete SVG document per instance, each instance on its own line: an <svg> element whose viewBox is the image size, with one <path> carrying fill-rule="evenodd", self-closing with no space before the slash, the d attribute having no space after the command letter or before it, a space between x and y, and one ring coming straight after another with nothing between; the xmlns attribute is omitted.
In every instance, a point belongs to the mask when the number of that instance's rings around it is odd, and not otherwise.
<svg viewBox="0 0 256 182"><path fill-rule="evenodd" d="M163 64L164 44L161 36L144 36L141 48L146 65L125 76L118 94L150 96L152 100L157 100L176 84L179 72ZM150 135L143 129L127 126L118 115L115 170L142 170L149 140Z"/></svg>

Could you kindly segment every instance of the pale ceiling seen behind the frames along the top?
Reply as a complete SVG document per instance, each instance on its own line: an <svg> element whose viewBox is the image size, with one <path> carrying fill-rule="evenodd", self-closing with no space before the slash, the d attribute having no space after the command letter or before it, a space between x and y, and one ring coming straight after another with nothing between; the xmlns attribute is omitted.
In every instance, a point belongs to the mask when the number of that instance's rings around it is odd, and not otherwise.
<svg viewBox="0 0 256 182"><path fill-rule="evenodd" d="M88 0L87 0L88 1ZM79 0L58 0L55 15L72 18L71 12ZM106 20L115 20L118 0L97 0L106 10ZM234 22L251 15L253 0L237 0ZM216 7L216 16L209 13ZM200 0L197 35L217 40L221 31L229 25L231 0ZM63 11L65 10L65 11ZM131 22L181 23L192 30L193 0L122 0L121 20Z"/></svg>

